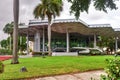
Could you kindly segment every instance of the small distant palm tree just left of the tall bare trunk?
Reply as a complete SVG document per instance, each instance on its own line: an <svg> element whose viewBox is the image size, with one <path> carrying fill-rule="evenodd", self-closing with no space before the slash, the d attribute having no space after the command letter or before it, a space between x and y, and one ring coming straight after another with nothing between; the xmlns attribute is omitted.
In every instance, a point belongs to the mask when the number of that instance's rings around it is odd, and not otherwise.
<svg viewBox="0 0 120 80"><path fill-rule="evenodd" d="M14 27L14 22L11 22L11 23L7 23L3 28L4 33L7 33L10 35L10 50L12 49L11 43L12 43L13 27Z"/></svg>

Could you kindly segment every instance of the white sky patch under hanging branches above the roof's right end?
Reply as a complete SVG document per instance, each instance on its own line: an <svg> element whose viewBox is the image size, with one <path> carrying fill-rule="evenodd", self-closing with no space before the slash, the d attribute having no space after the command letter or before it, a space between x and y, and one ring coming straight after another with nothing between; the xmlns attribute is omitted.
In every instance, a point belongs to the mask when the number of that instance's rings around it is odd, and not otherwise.
<svg viewBox="0 0 120 80"><path fill-rule="evenodd" d="M89 9L89 14L82 13L81 19L88 24L111 24L113 28L120 28L120 1L117 1L117 10L109 10L108 13L96 11L93 6Z"/></svg>

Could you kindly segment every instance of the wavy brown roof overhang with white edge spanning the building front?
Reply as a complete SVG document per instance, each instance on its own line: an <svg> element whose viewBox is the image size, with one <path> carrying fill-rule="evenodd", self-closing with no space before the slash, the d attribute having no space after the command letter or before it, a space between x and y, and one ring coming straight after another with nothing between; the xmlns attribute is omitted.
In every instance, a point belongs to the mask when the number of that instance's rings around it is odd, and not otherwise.
<svg viewBox="0 0 120 80"><path fill-rule="evenodd" d="M42 34L43 28L47 29L47 20L30 20L28 26L20 27L19 33L26 35L34 35L37 30ZM94 24L88 25L82 20L76 19L57 19L53 20L51 24L51 29L53 32L66 33L80 33L83 35L103 35L103 36L114 36L115 31L109 24Z"/></svg>

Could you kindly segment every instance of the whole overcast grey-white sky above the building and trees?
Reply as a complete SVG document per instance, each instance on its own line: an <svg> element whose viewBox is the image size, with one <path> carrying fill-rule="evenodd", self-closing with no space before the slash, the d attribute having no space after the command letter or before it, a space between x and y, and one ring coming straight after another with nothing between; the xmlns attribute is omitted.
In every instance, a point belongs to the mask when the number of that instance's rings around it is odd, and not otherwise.
<svg viewBox="0 0 120 80"><path fill-rule="evenodd" d="M40 2L40 0L20 0L20 16L19 22L28 24L29 20L34 19L33 9ZM96 11L93 6L89 9L89 14L82 13L80 19L87 24L111 24L113 28L120 28L120 1L116 2L118 10L104 13ZM64 1L64 10L61 16L58 18L74 18L73 15L69 14L70 4ZM2 0L0 2L0 40L6 38L6 34L2 31L5 24L13 21L13 0Z"/></svg>

